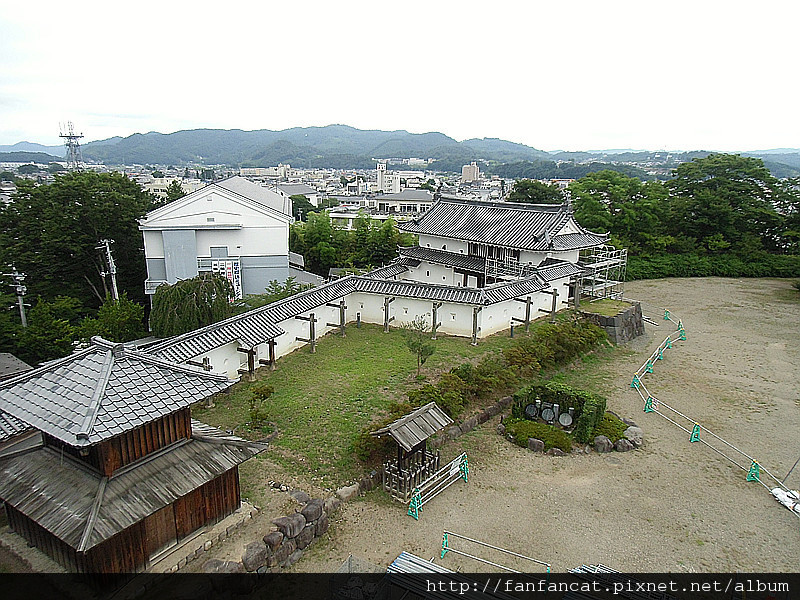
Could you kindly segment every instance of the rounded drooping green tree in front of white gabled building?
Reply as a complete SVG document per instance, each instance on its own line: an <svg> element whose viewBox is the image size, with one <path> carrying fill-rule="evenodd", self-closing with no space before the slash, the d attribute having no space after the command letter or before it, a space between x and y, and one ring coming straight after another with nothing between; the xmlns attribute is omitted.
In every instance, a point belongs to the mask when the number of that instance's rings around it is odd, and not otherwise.
<svg viewBox="0 0 800 600"><path fill-rule="evenodd" d="M211 273L160 285L153 295L150 328L158 337L200 329L232 316L233 298L231 282Z"/></svg>

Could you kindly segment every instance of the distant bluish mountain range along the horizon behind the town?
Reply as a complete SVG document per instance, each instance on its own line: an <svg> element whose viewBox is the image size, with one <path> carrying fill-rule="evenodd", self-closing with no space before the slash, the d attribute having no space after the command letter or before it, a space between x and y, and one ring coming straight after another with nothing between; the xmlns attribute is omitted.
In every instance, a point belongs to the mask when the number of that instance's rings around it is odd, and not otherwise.
<svg viewBox="0 0 800 600"><path fill-rule="evenodd" d="M185 165L188 163L233 167L267 167L288 163L295 167L357 169L374 167L374 159L434 159L432 168L461 170L471 161L497 164L539 163L541 161L650 163L677 165L706 151L668 152L626 149L591 152L545 152L524 144L497 138L470 139L458 142L443 133L361 130L347 125L294 127L282 131L260 129L192 129L163 134L137 133L125 138L113 137L81 146L88 161L105 164ZM2 153L46 153L62 158L63 146L44 146L19 142L0 146L0 161L11 160ZM800 175L800 149L778 148L742 152L761 158L778 177ZM31 158L31 160L37 160Z"/></svg>

